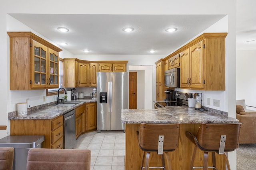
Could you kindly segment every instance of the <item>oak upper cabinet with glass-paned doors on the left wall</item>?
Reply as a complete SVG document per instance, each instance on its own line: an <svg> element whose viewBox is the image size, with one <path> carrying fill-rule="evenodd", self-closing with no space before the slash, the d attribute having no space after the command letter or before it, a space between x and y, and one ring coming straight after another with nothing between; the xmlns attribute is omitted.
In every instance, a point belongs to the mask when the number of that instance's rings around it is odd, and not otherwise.
<svg viewBox="0 0 256 170"><path fill-rule="evenodd" d="M58 52L62 50L31 32L7 33L10 37L10 90L56 88L59 84ZM52 61L51 56L54 56Z"/></svg>

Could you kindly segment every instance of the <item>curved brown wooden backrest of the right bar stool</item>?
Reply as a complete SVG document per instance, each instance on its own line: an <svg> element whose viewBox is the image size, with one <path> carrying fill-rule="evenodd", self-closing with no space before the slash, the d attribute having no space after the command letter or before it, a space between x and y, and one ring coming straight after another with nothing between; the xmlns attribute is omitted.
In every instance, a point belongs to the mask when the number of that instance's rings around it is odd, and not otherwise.
<svg viewBox="0 0 256 170"><path fill-rule="evenodd" d="M219 150L221 135L226 135L225 152L238 148L241 123L201 124L196 139L204 150Z"/></svg>

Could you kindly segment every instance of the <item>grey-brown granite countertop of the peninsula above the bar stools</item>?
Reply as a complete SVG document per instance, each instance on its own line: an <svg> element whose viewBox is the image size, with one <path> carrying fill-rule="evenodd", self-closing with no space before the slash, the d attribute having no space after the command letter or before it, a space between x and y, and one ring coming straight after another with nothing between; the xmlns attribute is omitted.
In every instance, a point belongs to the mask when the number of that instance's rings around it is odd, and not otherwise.
<svg viewBox="0 0 256 170"><path fill-rule="evenodd" d="M176 106L158 109L122 109L122 123L239 123L238 119L192 107Z"/></svg>

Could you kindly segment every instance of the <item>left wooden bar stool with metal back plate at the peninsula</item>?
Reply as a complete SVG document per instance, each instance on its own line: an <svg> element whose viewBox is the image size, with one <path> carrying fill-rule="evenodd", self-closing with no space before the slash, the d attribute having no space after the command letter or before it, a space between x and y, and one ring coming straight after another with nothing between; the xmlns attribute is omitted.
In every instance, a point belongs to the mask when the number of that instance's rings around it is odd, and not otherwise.
<svg viewBox="0 0 256 170"><path fill-rule="evenodd" d="M166 170L164 157L169 170L172 170L170 164L170 156L168 152L175 150L178 147L180 133L179 124L140 124L138 132L138 142L140 149L143 150L141 162L141 170L145 168L163 168ZM149 167L150 152L162 154L162 167ZM145 167L144 159L146 154Z"/></svg>

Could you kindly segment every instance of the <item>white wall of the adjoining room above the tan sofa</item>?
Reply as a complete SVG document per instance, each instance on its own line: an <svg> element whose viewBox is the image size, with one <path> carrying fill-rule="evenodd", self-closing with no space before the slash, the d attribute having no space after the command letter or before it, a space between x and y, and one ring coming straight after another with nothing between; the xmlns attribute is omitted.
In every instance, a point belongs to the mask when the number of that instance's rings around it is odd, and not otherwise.
<svg viewBox="0 0 256 170"><path fill-rule="evenodd" d="M236 51L236 100L256 107L256 50ZM256 110L254 107L247 109Z"/></svg>

